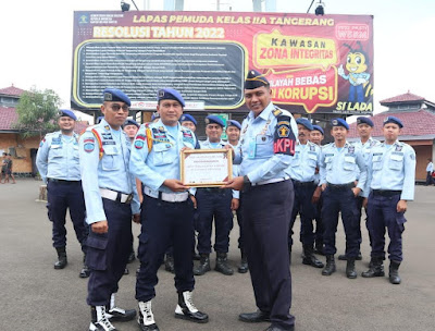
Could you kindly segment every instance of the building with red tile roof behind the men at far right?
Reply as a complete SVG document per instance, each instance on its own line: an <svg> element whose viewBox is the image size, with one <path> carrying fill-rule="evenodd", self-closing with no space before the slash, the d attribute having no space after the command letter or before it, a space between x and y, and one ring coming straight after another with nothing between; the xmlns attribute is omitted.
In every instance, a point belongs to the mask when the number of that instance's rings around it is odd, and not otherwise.
<svg viewBox="0 0 435 331"><path fill-rule="evenodd" d="M411 145L417 154L415 179L426 179L427 159L435 157L435 103L410 91L381 101L387 111L371 118L374 123L372 136L384 140L382 132L384 119L396 117L403 123L399 140ZM349 125L349 140L358 138L357 123Z"/></svg>

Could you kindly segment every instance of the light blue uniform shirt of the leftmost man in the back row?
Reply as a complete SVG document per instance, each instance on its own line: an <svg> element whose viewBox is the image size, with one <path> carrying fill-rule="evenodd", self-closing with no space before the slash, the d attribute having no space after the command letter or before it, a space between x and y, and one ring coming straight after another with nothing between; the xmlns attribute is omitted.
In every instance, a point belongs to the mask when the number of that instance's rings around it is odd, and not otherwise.
<svg viewBox="0 0 435 331"><path fill-rule="evenodd" d="M49 133L39 144L36 167L44 183L47 179L79 181L78 135L62 135L60 131Z"/></svg>

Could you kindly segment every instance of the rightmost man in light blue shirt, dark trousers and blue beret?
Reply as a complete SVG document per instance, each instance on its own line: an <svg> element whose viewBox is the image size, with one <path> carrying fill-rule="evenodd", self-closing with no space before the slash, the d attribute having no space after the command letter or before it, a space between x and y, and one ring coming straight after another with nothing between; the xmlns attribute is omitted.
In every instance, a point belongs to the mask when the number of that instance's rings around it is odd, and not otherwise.
<svg viewBox="0 0 435 331"><path fill-rule="evenodd" d="M370 152L368 191L369 232L372 237L370 269L362 277L383 277L385 259L385 229L388 231L389 282L400 284L399 266L403 259L401 234L405 231L405 212L414 199L415 151L398 140L403 124L398 118L384 120L385 143Z"/></svg>

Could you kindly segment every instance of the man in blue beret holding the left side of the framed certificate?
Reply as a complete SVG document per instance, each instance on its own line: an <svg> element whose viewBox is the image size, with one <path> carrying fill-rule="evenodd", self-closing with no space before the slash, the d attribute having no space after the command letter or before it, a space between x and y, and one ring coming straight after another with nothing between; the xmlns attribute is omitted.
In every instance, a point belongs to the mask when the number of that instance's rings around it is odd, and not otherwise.
<svg viewBox="0 0 435 331"><path fill-rule="evenodd" d="M185 106L182 95L173 88L158 91L159 121L141 125L132 149L130 169L144 184L141 233L139 236L140 270L136 281L140 330L159 330L151 310L156 296L157 272L167 247L173 246L175 287L178 305L175 317L195 322L208 322L191 297L195 286L194 199L179 180L179 156L195 148L197 139L191 130L178 120Z"/></svg>

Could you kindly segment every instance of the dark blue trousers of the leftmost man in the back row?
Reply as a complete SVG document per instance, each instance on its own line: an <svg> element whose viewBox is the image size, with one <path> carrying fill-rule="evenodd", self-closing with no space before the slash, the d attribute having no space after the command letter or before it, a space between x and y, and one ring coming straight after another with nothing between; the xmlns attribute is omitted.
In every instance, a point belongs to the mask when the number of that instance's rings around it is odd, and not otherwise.
<svg viewBox="0 0 435 331"><path fill-rule="evenodd" d="M86 207L82 182L53 182L47 184L48 218L53 222L53 247L66 246L65 217L70 208L70 217L74 224L75 235L86 253L88 228L85 223Z"/></svg>

